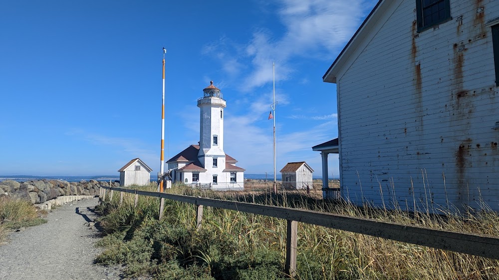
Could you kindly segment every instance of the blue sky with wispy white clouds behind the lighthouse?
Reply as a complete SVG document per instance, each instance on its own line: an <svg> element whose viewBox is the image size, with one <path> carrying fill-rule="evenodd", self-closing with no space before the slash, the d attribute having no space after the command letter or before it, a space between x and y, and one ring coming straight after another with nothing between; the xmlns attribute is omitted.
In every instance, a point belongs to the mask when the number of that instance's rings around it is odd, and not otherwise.
<svg viewBox="0 0 499 280"><path fill-rule="evenodd" d="M225 152L246 173L277 171L337 137L336 88L322 76L376 0L2 1L0 174L159 170L162 47L165 159L199 141L198 98L227 100ZM337 176L337 155L329 176Z"/></svg>

